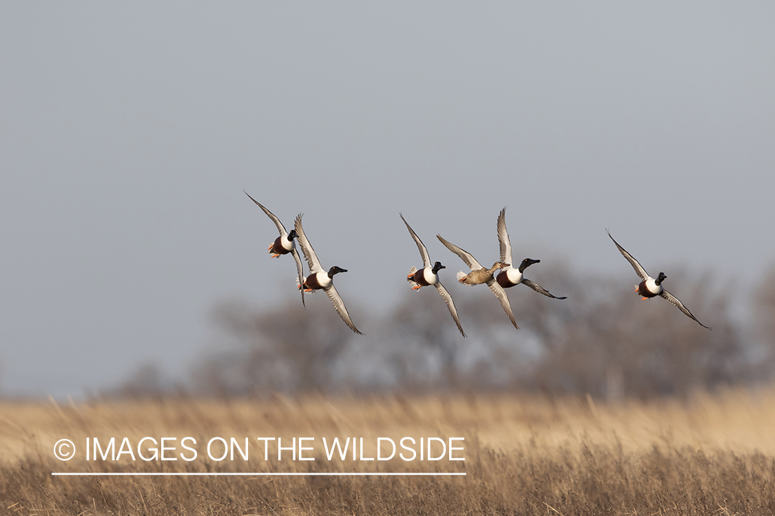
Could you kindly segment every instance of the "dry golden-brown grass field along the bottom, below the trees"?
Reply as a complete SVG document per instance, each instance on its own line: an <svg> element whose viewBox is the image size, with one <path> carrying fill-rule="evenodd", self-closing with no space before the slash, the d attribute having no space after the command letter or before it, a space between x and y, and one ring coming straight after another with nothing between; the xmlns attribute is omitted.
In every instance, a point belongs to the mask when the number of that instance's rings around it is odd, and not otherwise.
<svg viewBox="0 0 775 516"><path fill-rule="evenodd" d="M773 514L773 433L775 391L619 404L523 395L5 402L0 403L0 513ZM133 461L126 449L115 461L85 460L87 438L104 444L115 437L119 446L126 437L136 446L148 436L177 438L167 443L174 448L169 455L178 460ZM185 436L196 440L195 460L181 459ZM215 436L236 437L239 443L249 437L249 460L239 455L208 459L206 443ZM315 460L291 460L289 450L277 460L273 446L264 460L266 450L256 438L269 436L284 443L315 437L304 452ZM366 458L374 457L377 437L396 443L405 436L463 437L456 442L463 451L454 453L465 460L327 460L322 438L348 436L364 438ZM54 457L54 443L62 438L79 448L73 460ZM150 453L147 446L143 453ZM64 477L52 472L255 474ZM261 474L267 472L467 474Z"/></svg>

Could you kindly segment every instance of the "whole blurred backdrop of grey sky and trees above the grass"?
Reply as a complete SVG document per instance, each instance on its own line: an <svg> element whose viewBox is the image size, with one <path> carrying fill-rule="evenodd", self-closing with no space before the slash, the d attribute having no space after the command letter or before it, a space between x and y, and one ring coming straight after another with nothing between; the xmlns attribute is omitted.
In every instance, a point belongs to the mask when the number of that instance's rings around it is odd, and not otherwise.
<svg viewBox="0 0 775 516"><path fill-rule="evenodd" d="M0 395L681 395L775 358L771 2L0 5ZM305 231L352 333L272 260ZM515 261L521 329L436 234ZM402 212L446 266L468 334ZM638 281L605 228L713 331Z"/></svg>

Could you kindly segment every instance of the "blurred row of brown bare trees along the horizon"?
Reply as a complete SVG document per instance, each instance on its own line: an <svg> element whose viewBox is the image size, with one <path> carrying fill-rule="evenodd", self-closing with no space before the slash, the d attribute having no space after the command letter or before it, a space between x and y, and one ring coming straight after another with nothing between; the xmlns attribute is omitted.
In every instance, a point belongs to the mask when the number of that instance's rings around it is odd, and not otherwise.
<svg viewBox="0 0 775 516"><path fill-rule="evenodd" d="M359 307L367 337L347 330L322 295L306 309L295 297L265 311L219 302L212 309L217 349L198 361L186 389L219 396L511 390L617 399L688 395L773 376L775 268L750 300L733 281L709 287L710 275L673 269L672 292L713 331L663 299L641 301L632 281L566 265L535 269L537 282L568 299L524 285L508 289L520 330L484 285L460 289L447 279L466 339L435 289L407 288L398 306L366 318ZM735 306L754 307L750 329ZM143 395L160 385L157 371L146 367L138 376L114 393Z"/></svg>

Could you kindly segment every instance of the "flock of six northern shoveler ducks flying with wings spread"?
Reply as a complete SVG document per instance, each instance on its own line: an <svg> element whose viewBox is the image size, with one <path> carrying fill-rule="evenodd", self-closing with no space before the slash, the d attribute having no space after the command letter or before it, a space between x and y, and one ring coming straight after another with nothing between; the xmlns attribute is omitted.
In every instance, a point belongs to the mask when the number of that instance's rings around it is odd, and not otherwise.
<svg viewBox="0 0 775 516"><path fill-rule="evenodd" d="M274 222L274 225L277 226L277 231L280 233L280 236L277 237L267 249L271 257L279 258L282 255L291 255L294 257L298 274L296 283L298 285L298 289L301 291L302 304L305 303L305 293L314 293L318 290L322 290L325 292L326 296L329 296L334 309L336 309L336 313L339 314L339 317L342 318L350 330L353 330L353 332L359 335L363 335L363 333L361 333L360 330L356 328L353 320L350 319L350 314L347 313L347 308L344 304L342 296L339 295L339 292L336 290L333 282L335 275L339 274L340 272L347 272L347 269L341 268L338 265L333 265L328 270L325 270L325 268L322 267L318 256L315 255L315 250L312 248L312 244L309 243L307 236L305 235L304 228L301 227L301 214L296 217L294 220L293 229L288 232L280 222L280 219L278 219L272 212L270 212L270 210L267 210L266 207L263 207L263 205L260 204L257 200L253 199L249 193L245 193L248 197L250 197L250 200L256 203L258 207L260 207L261 210L267 214L267 216ZM446 267L442 265L440 261L431 261L428 248L425 247L425 244L422 243L420 237L418 237L412 227L409 226L409 223L406 221L403 214L399 214L399 216L401 217L401 220L404 221L409 234L412 236L412 240L414 240L415 244L417 244L418 251L420 251L420 257L422 258L422 268L416 268L412 266L412 268L409 269L408 275L406 276L406 281L414 291L418 291L425 286L432 285L435 287L436 291L439 292L439 296L441 296L444 302L446 302L446 306L449 309L449 315L452 316L457 329L460 330L460 334L463 335L463 337L466 337L466 333L463 331L463 326L460 324L460 317L458 316L457 309L455 308L455 302L453 301L452 296L449 294L449 291L444 287L444 285L442 285L441 280L439 279L439 272ZM548 290L544 289L538 283L532 282L525 278L525 269L530 265L539 263L540 260L525 258L517 267L514 266L514 261L512 259L512 244L508 239L508 231L506 231L506 208L501 210L501 213L498 215L497 229L498 244L500 245L500 257L498 258L498 261L493 263L491 268L482 266L480 262L474 258L474 255L471 255L470 252L464 250L463 248L459 248L455 244L446 241L443 237L441 237L441 235L437 234L436 237L447 249L449 249L449 251L452 251L461 260L463 260L463 262L470 269L469 272L458 272L457 281L460 282L461 285L487 285L495 297L498 298L503 311L508 316L508 320L510 320L512 325L518 330L519 326L517 326L514 313L512 312L512 306L511 303L508 302L508 296L506 295L505 289L510 289L511 287L522 283L522 285L526 285L530 289L533 289L536 292L539 292L540 294L543 294L544 296L550 297L552 299L567 299L567 296L553 296L553 294L549 293ZM711 330L710 327L701 323L697 317L695 317L689 311L689 309L684 306L683 302L680 302L676 296L673 296L670 294L670 292L667 292L667 290L663 288L662 283L665 279L667 279L667 275L665 275L663 272L660 272L656 278L652 278L646 272L646 269L643 268L642 265L640 265L640 263L629 254L629 252L625 251L625 249L614 240L614 237L611 237L611 233L608 233L608 237L610 237L611 241L614 242L616 248L620 253L622 253L622 256L624 256L627 261L630 262L630 265L632 265L632 268L635 269L636 274L639 275L640 279L642 280L639 285L635 285L635 291L639 296L642 296L642 299L651 299L656 296L667 299L674 306L680 309L681 312L686 314L686 316L696 321L700 326ZM301 258L299 256L298 250L296 249L296 242L298 242L299 247L301 247L301 252L304 254L304 258L307 261L309 273L306 276L304 275Z"/></svg>

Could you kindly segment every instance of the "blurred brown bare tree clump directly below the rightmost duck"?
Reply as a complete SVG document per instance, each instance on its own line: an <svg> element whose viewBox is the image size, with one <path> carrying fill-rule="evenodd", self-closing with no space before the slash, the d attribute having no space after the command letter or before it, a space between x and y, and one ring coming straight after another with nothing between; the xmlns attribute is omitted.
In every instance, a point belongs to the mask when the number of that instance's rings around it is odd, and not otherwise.
<svg viewBox="0 0 775 516"><path fill-rule="evenodd" d="M609 280L597 296L579 292L583 299L574 303L573 318L547 342L536 384L554 392L643 397L735 383L745 353L729 318L731 287L708 292L707 278L689 282L680 276L682 295L693 300L694 313L712 321L712 332L670 303L640 301Z"/></svg>

